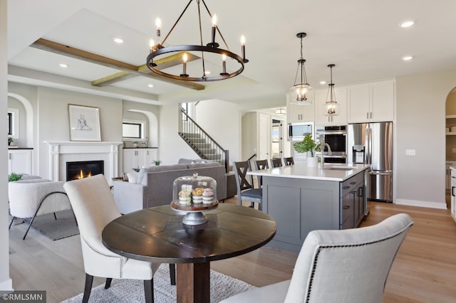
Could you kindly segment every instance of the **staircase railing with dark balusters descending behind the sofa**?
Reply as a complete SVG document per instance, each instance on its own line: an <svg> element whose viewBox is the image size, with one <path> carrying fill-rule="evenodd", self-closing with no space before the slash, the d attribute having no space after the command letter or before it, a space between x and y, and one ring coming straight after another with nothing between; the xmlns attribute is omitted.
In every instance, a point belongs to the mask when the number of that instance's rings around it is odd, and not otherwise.
<svg viewBox="0 0 456 303"><path fill-rule="evenodd" d="M185 110L181 110L179 135L201 159L217 161L229 171L229 151L223 149L207 132L193 120Z"/></svg>

